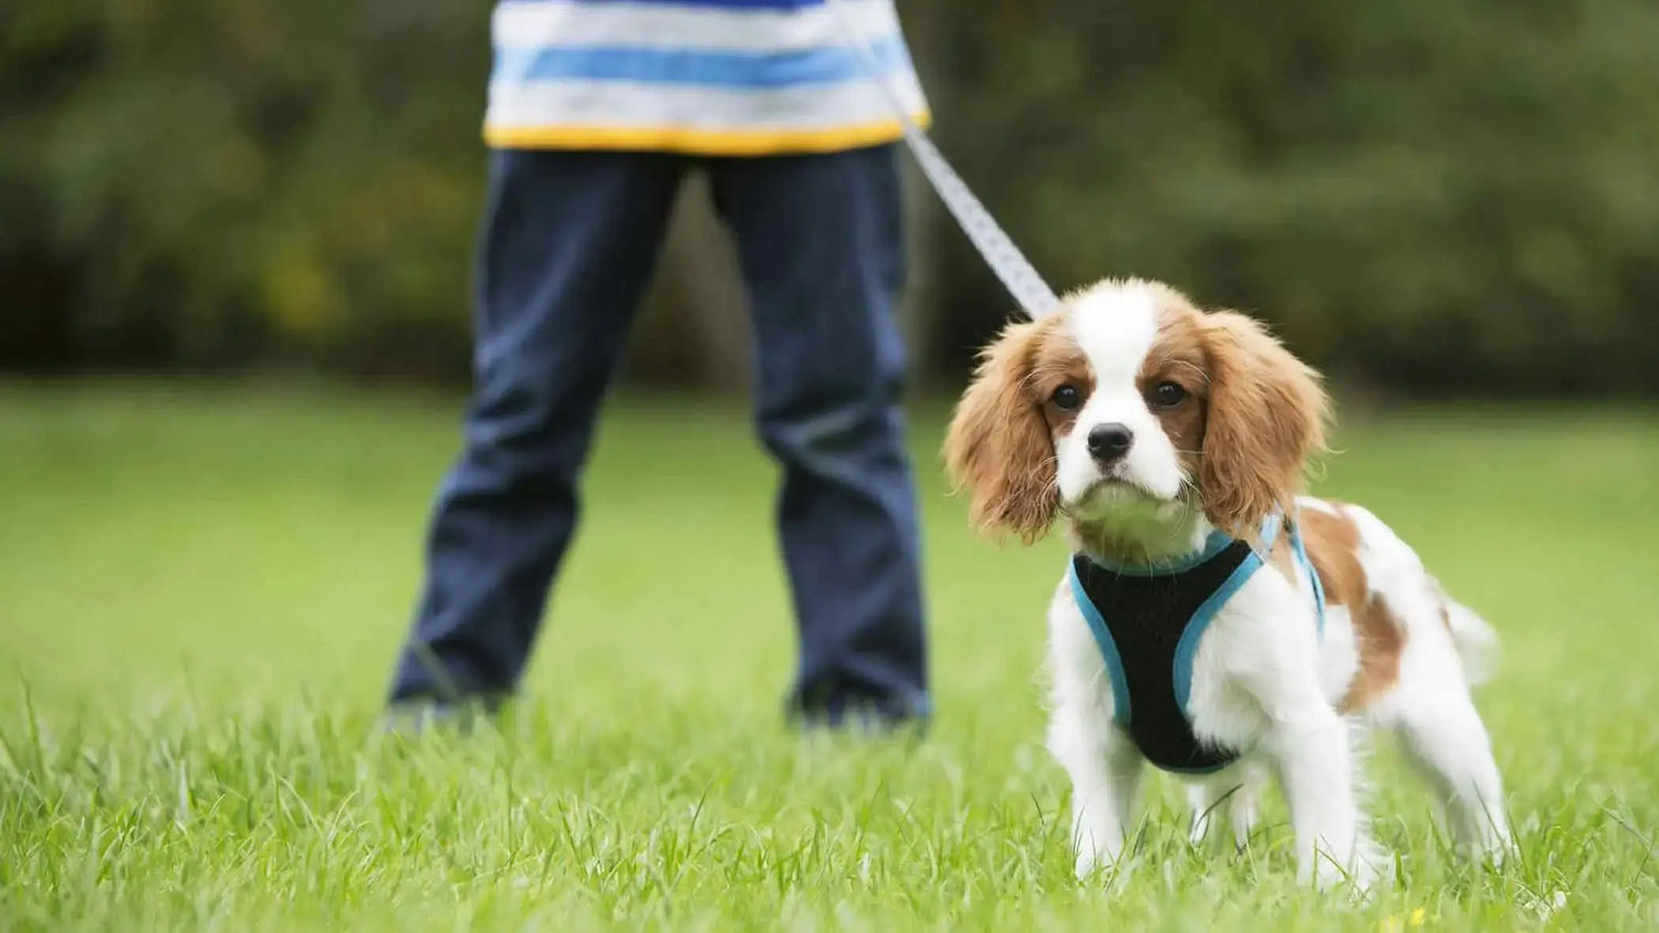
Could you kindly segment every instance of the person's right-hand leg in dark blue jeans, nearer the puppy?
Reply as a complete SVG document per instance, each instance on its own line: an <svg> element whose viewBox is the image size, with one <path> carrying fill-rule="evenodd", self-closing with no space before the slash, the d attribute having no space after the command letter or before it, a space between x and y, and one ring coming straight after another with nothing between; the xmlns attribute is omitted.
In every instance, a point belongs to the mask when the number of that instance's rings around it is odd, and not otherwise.
<svg viewBox="0 0 1659 933"><path fill-rule="evenodd" d="M757 411L783 464L778 524L806 721L929 713L916 496L894 303L904 280L898 154L717 159L757 351Z"/></svg>

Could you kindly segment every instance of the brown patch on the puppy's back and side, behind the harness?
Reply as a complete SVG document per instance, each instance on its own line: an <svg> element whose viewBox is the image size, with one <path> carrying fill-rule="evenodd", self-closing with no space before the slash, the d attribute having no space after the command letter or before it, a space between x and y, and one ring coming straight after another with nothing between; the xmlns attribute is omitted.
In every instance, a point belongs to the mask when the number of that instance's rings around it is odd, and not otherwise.
<svg viewBox="0 0 1659 933"><path fill-rule="evenodd" d="M1337 514L1302 509L1302 542L1307 558L1319 573L1326 603L1344 607L1354 623L1354 648L1359 670L1342 696L1342 711L1364 709L1400 679L1400 653L1405 651L1405 628L1389 605L1370 593L1365 567L1359 562L1359 525L1337 502Z"/></svg>

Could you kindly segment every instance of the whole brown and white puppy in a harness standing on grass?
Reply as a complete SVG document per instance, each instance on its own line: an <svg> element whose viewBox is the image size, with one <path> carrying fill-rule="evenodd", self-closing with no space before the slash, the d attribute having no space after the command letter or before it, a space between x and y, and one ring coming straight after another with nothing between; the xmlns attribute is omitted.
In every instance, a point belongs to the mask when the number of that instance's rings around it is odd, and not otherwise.
<svg viewBox="0 0 1659 933"><path fill-rule="evenodd" d="M1395 729L1458 844L1508 847L1470 699L1491 630L1359 505L1299 496L1324 449L1319 376L1251 318L1108 280L984 351L946 439L975 527L1063 520L1048 607L1048 749L1072 779L1078 877L1112 863L1143 764L1249 837L1267 772L1299 877L1370 883L1350 724Z"/></svg>

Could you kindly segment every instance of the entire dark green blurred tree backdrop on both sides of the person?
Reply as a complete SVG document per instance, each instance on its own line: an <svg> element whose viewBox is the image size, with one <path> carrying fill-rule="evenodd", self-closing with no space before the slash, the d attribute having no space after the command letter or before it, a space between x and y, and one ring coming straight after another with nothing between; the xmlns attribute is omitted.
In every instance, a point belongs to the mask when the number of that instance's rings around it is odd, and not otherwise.
<svg viewBox="0 0 1659 933"><path fill-rule="evenodd" d="M1659 389L1654 3L901 12L941 146L1057 287L1165 277L1382 388ZM0 366L465 376L488 17L0 7ZM924 224L922 345L961 371L1010 303ZM730 373L720 245L680 229L635 363Z"/></svg>

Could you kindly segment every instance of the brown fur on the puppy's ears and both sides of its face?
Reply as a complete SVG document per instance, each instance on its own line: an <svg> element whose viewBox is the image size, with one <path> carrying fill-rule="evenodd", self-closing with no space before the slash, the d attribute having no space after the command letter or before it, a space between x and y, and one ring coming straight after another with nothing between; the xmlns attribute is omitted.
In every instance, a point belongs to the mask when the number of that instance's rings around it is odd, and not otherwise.
<svg viewBox="0 0 1659 933"><path fill-rule="evenodd" d="M1180 292L1153 288L1158 340L1138 386L1178 383L1188 398L1155 413L1194 477L1206 517L1251 540L1262 519L1289 509L1302 467L1324 449L1329 411L1319 376L1259 323L1234 312L1199 312ZM969 494L980 532L1040 539L1058 512L1055 441L1075 414L1052 404L1062 384L1087 399L1093 376L1063 338L1060 317L1012 323L980 355L946 436L946 469Z"/></svg>

